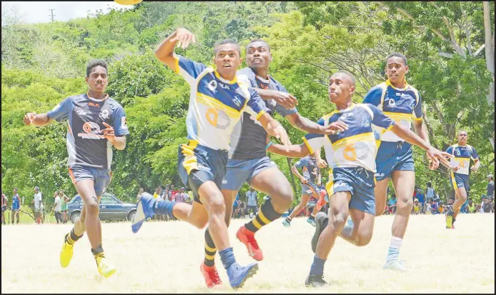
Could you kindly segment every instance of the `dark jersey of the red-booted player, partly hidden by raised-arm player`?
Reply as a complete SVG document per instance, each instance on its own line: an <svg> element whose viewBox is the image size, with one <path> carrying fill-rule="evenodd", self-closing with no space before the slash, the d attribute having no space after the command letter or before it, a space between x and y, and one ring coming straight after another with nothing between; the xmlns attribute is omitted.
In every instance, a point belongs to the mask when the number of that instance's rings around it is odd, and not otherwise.
<svg viewBox="0 0 496 295"><path fill-rule="evenodd" d="M288 91L278 81L271 76L268 80L257 76L252 69L244 68L237 73L238 81L245 83L253 88L278 90L288 93ZM285 109L273 99L264 101L265 107L268 109L270 116L274 112L280 116L288 116L298 112L296 108ZM231 134L231 149L230 158L238 160L258 159L266 156L265 146L267 145L267 131L263 129L262 125L257 121L255 116L248 113L243 114L238 124L234 127L233 134Z"/></svg>

